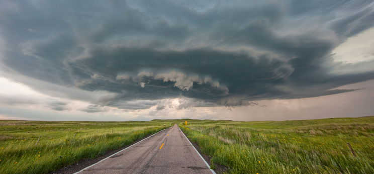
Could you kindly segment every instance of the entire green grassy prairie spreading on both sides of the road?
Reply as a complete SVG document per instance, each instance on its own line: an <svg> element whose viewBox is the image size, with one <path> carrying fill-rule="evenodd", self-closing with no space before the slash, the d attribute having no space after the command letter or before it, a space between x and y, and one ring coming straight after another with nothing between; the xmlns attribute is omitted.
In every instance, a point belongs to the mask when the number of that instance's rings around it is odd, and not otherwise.
<svg viewBox="0 0 374 174"><path fill-rule="evenodd" d="M374 173L374 117L252 122L187 119L187 126L184 121L0 120L0 173L53 171L101 156L174 123L214 163L228 166L229 173Z"/></svg>

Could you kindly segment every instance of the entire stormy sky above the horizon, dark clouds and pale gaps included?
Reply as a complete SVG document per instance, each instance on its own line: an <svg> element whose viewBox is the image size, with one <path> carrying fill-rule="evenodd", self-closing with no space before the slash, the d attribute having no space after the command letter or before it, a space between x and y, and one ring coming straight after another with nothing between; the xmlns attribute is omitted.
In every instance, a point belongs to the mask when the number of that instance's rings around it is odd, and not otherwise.
<svg viewBox="0 0 374 174"><path fill-rule="evenodd" d="M372 1L0 1L0 119L374 115Z"/></svg>

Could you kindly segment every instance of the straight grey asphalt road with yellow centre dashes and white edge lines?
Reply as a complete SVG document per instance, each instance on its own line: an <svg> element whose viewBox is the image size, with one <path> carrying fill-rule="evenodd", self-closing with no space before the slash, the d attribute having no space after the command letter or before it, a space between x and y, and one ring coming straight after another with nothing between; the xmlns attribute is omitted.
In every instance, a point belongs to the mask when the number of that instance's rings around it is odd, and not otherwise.
<svg viewBox="0 0 374 174"><path fill-rule="evenodd" d="M164 129L79 173L212 173L177 125Z"/></svg>

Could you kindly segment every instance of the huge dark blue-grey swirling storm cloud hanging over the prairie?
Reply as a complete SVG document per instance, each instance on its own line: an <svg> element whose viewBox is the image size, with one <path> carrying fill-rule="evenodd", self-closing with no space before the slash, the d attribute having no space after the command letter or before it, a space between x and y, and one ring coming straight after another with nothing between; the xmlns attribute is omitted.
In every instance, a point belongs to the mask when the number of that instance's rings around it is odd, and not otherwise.
<svg viewBox="0 0 374 174"><path fill-rule="evenodd" d="M349 92L331 51L373 26L371 1L5 2L2 63L34 78L108 91L102 106L162 110ZM3 9L2 9L3 10ZM347 65L344 65L347 66ZM68 96L68 95L67 95ZM257 104L256 104L257 106ZM55 109L62 109L56 106Z"/></svg>

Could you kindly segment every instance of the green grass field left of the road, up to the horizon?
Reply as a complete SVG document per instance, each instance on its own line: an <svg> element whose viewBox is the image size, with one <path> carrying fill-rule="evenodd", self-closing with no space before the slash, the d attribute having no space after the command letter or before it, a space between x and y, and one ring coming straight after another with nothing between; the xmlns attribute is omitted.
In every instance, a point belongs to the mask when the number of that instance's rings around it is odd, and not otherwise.
<svg viewBox="0 0 374 174"><path fill-rule="evenodd" d="M46 173L83 158L103 155L171 125L170 120L0 120L0 173Z"/></svg>

